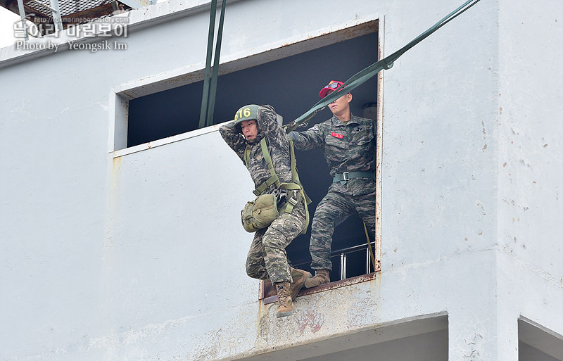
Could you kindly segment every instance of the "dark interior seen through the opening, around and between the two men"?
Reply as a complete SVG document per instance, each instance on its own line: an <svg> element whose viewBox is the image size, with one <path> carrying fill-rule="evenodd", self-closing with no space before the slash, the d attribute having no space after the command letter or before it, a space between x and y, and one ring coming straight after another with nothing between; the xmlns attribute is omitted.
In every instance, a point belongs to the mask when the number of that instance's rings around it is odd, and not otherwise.
<svg viewBox="0 0 563 361"><path fill-rule="evenodd" d="M248 103L271 104L284 117L284 122L289 122L317 103L320 89L330 80L345 81L377 60L377 32L374 32L222 75L217 80L214 124L232 120L235 111ZM202 91L203 82L197 82L129 101L127 146L197 129ZM362 116L366 104L377 103L377 77L352 94L352 112ZM309 127L331 115L328 109L320 111ZM331 183L327 163L320 150L297 151L296 157L301 181L312 199L310 213L313 215ZM299 236L287 248L292 264L305 270L310 270L309 239L310 227L307 234ZM336 228L332 251L365 243L363 224L353 215ZM365 257L365 248L348 254L346 278L369 273ZM340 264L341 256L336 253L331 272L333 281L340 279Z"/></svg>

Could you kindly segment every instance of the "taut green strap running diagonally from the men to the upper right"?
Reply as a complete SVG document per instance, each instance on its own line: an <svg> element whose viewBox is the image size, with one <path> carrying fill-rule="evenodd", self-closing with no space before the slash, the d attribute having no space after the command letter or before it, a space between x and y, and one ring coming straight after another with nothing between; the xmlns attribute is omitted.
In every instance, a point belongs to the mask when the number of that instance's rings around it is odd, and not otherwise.
<svg viewBox="0 0 563 361"><path fill-rule="evenodd" d="M364 70L361 70L360 72L353 75L353 77L350 77L350 79L346 80L346 82L342 84L341 88L346 87L346 92L352 91L353 89L359 87L361 84L367 82L367 80L374 77L374 75L377 75L377 73L380 72L381 70L391 69L393 63L400 56L402 56L403 53L407 52L409 49L411 49L419 42L422 42L422 40L426 39L426 37L429 37L436 30L440 29L445 24L449 23L451 20L457 18L457 16L467 11L469 8L474 6L479 1L480 0L466 1L462 6L455 9L455 11L449 13L447 16L445 16L445 18L438 21L438 23L429 27L428 30L420 34L418 37L413 39L407 45L403 46L403 48L399 49L395 53L392 53L390 56L386 56L385 58L381 59L377 63L373 63L372 65L369 65ZM289 122L287 125L285 125L284 128L286 129L286 132L289 133L293 131L293 129L296 129L297 127L302 125L303 123L306 124L306 122L308 122L308 120L314 117L319 110L322 110L322 108L332 103L336 99L339 99L341 96L342 94L339 91L332 91L329 95L325 96L322 100L318 101L314 106L312 106L312 108L310 108L310 110L308 110L305 114L301 115L296 120L293 120L293 122Z"/></svg>

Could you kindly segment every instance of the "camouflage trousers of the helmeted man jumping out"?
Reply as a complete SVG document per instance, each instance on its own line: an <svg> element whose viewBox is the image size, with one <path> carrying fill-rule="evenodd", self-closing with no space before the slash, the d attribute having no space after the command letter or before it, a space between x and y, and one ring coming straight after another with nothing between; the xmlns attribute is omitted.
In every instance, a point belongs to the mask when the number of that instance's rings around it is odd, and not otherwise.
<svg viewBox="0 0 563 361"><path fill-rule="evenodd" d="M270 279L272 284L291 282L286 247L305 226L303 201L291 213L281 213L270 227L254 234L246 257L246 274L255 279Z"/></svg>

